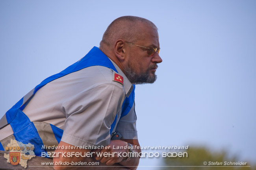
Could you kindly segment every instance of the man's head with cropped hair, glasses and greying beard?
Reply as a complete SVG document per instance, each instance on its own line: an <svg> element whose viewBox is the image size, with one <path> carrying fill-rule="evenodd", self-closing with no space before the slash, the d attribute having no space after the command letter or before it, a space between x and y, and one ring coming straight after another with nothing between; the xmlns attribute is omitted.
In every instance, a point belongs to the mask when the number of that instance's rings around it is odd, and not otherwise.
<svg viewBox="0 0 256 170"><path fill-rule="evenodd" d="M105 31L100 50L112 59L134 84L153 83L161 63L157 27L134 16L115 19Z"/></svg>

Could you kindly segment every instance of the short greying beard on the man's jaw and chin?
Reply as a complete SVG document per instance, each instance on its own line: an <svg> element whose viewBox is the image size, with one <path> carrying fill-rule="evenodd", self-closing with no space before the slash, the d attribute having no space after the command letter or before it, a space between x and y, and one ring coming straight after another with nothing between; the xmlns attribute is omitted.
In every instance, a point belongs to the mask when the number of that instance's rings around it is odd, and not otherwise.
<svg viewBox="0 0 256 170"><path fill-rule="evenodd" d="M124 74L132 84L154 83L157 76L155 74L150 76L149 71L150 69L148 69L147 72L138 75L132 71L130 67L124 68Z"/></svg>

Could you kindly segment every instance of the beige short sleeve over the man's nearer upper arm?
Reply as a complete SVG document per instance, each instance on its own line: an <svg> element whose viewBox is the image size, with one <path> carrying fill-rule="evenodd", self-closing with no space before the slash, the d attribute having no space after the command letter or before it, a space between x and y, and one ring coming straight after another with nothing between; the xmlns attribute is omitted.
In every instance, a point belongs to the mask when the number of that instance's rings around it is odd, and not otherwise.
<svg viewBox="0 0 256 170"><path fill-rule="evenodd" d="M61 140L75 146L108 145L110 126L121 109L122 98L122 89L113 84L72 96L63 103L67 119Z"/></svg>

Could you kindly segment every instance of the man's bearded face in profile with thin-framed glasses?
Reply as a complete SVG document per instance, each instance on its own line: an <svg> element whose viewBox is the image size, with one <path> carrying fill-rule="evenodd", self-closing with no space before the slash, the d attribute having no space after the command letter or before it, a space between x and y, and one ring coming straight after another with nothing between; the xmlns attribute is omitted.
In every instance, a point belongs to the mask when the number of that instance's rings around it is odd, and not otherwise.
<svg viewBox="0 0 256 170"><path fill-rule="evenodd" d="M124 68L124 73L130 82L134 84L154 83L157 78L155 74L158 67L157 63L162 62L158 54L160 44L157 30L147 28L142 31L145 32L138 38L135 42L136 44L126 44L129 46L130 51L128 67ZM148 51L152 50L152 48L157 49L154 52Z"/></svg>

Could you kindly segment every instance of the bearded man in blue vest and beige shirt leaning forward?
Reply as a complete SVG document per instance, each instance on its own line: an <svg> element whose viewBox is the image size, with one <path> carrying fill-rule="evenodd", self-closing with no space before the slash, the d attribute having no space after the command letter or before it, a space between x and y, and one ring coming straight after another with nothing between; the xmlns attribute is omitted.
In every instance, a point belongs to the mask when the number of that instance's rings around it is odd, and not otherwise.
<svg viewBox="0 0 256 170"><path fill-rule="evenodd" d="M139 142L133 84L156 80L157 63L162 62L159 51L158 31L151 21L134 16L117 18L105 31L100 48L94 47L77 63L45 79L7 111L0 121L0 148L3 150L11 139L30 142L35 145L35 155L42 156L52 151L43 145L65 146L55 153L92 155L56 154L54 162L96 160L104 169L136 169L139 157L128 155L140 152L135 147ZM126 154L96 154L112 152Z"/></svg>

